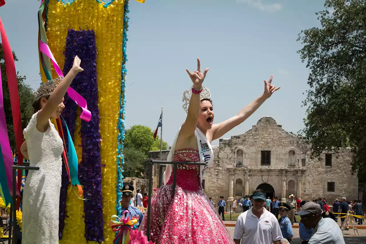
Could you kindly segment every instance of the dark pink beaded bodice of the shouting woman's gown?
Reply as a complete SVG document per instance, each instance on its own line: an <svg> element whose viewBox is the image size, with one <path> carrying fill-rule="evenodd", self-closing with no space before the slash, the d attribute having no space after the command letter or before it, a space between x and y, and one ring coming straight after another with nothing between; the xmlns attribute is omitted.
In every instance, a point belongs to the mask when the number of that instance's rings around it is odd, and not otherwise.
<svg viewBox="0 0 366 244"><path fill-rule="evenodd" d="M199 152L194 149L181 149L174 152L175 162L199 162ZM173 172L167 185L173 183ZM179 164L177 166L176 184L183 190L197 192L201 186L199 182L199 166Z"/></svg>

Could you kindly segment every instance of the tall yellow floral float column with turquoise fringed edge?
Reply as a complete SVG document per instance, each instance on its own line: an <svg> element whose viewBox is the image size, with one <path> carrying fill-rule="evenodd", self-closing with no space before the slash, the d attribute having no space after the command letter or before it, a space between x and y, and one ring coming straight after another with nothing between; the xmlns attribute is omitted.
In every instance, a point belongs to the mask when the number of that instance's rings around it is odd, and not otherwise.
<svg viewBox="0 0 366 244"><path fill-rule="evenodd" d="M143 1L142 1L143 2ZM65 42L68 30L93 30L96 43L96 75L99 107L102 237L87 240L95 231L85 224L84 201L68 185L64 228L60 228L60 243L113 243L115 234L108 223L112 215L120 215L120 189L122 188L123 139L124 139L124 77L128 1L112 0L48 0L46 2L46 35L48 45L61 69L65 64ZM53 74L56 75L56 74ZM78 111L78 113L80 113ZM94 115L93 115L94 116ZM76 117L74 145L78 159L82 122ZM68 123L70 126L70 124ZM88 196L83 196L88 198ZM61 201L61 198L60 198ZM61 206L61 204L60 204ZM60 224L60 226L63 226Z"/></svg>

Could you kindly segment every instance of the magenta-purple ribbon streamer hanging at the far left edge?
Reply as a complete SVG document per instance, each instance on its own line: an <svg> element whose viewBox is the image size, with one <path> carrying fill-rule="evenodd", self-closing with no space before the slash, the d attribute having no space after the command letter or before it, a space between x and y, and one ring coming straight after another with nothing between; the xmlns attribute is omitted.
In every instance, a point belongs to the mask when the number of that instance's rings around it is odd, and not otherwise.
<svg viewBox="0 0 366 244"><path fill-rule="evenodd" d="M0 71L0 144L1 144L1 152L3 153L4 159L4 167L5 167L5 175L7 175L8 188L9 192L12 195L12 187L13 187L13 173L11 166L13 163L13 156L11 155L11 148L8 137L8 130L5 119L5 111L4 111L4 99L3 99L3 86L1 83L1 71ZM5 191L5 189L4 189Z"/></svg>

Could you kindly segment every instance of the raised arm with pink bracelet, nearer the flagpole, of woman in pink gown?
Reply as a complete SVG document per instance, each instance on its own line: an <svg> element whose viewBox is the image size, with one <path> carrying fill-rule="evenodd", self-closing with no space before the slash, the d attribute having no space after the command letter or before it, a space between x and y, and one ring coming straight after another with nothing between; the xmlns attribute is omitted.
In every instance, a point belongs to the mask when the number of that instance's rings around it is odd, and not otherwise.
<svg viewBox="0 0 366 244"><path fill-rule="evenodd" d="M186 69L189 77L193 82L193 90L197 91L197 94L192 92L191 99L189 101L188 113L186 121L183 123L182 128L180 129L179 139L186 139L194 135L194 132L197 127L199 109L201 106L201 99L198 91L202 88L203 80L205 80L207 71L209 68L205 69L203 73L201 73L201 64L199 59L197 59L197 70L193 73L190 73L188 69Z"/></svg>

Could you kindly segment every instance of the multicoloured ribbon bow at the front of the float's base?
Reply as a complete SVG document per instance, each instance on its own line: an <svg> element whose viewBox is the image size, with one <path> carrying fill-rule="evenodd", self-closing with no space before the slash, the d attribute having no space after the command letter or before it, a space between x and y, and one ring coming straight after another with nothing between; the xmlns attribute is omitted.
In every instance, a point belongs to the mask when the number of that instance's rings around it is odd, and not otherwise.
<svg viewBox="0 0 366 244"><path fill-rule="evenodd" d="M109 226L113 229L113 232L117 232L116 238L113 240L113 244L127 244L130 241L130 235L128 230L137 229L137 219L128 220L131 213L128 210L124 210L122 216L128 215L126 217L118 217L117 215L112 215L111 222Z"/></svg>

